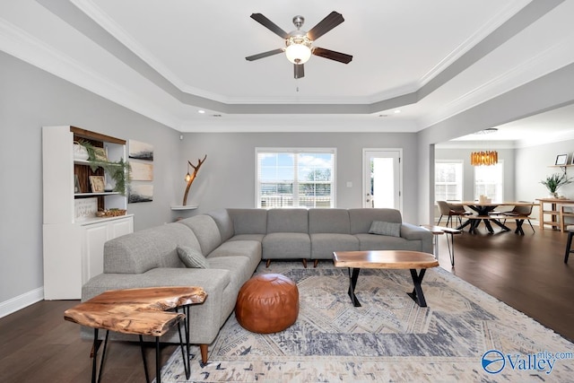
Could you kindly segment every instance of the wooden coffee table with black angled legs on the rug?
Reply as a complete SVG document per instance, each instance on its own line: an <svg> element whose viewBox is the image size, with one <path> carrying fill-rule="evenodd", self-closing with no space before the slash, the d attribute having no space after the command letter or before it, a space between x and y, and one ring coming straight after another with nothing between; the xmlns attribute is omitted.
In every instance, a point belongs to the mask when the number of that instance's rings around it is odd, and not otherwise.
<svg viewBox="0 0 574 383"><path fill-rule="evenodd" d="M361 268L409 269L414 289L413 292L407 292L407 294L419 306L427 307L422 293L422 278L427 268L439 265L439 261L431 254L407 250L335 251L333 260L335 267L349 269L349 296L355 307L361 307L361 302L355 295L355 286ZM421 271L417 274L416 269L421 269Z"/></svg>

